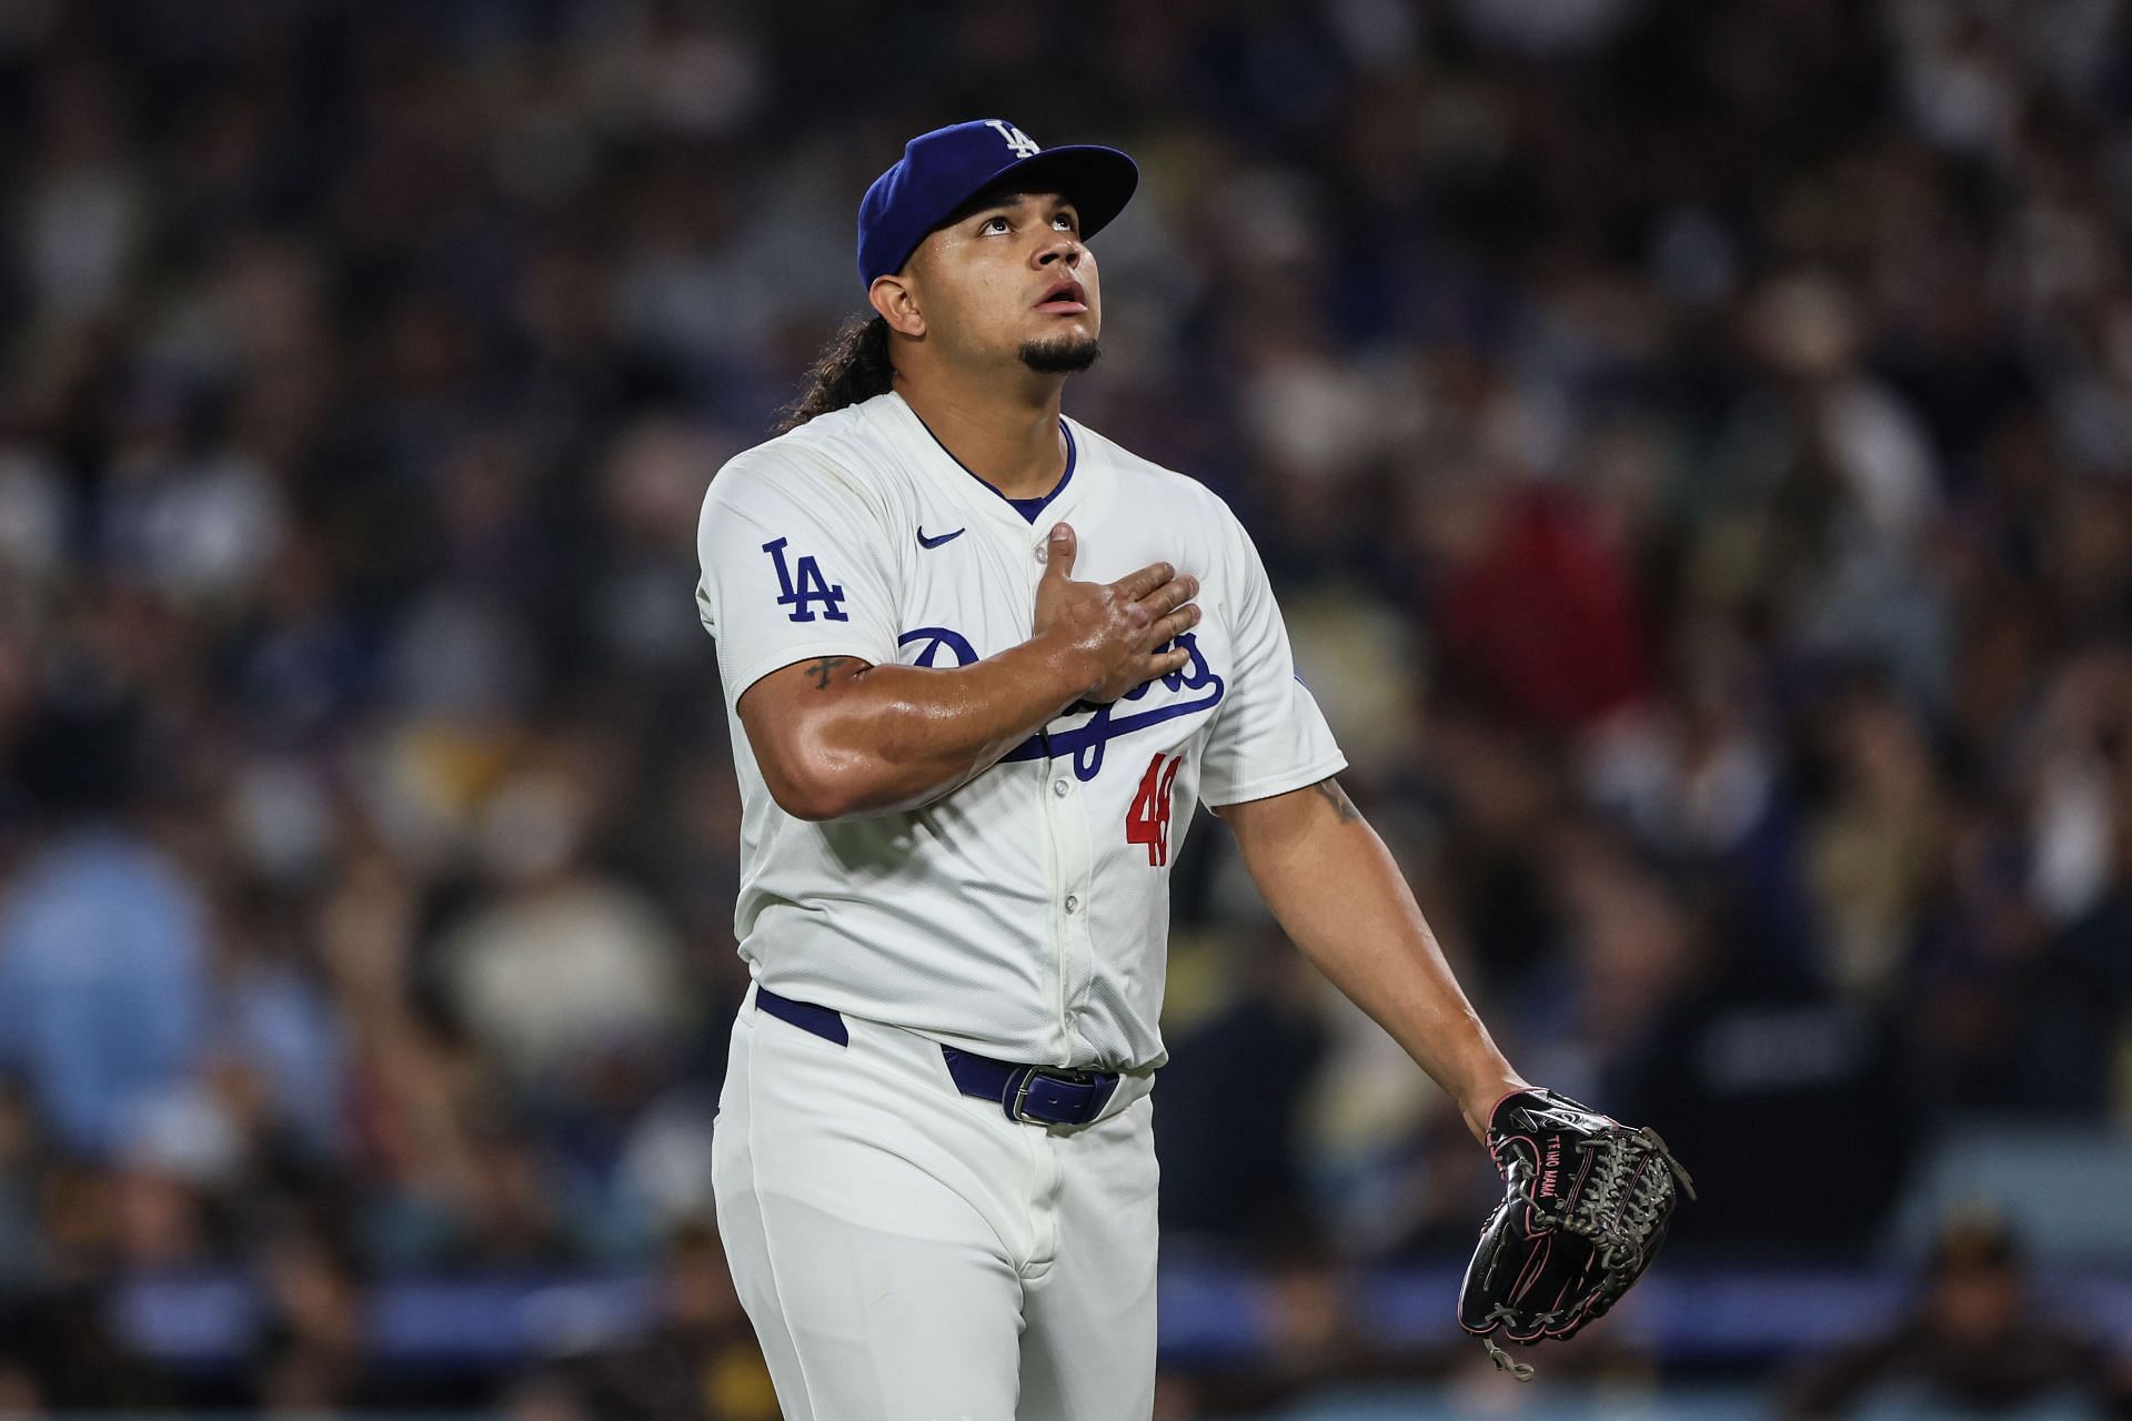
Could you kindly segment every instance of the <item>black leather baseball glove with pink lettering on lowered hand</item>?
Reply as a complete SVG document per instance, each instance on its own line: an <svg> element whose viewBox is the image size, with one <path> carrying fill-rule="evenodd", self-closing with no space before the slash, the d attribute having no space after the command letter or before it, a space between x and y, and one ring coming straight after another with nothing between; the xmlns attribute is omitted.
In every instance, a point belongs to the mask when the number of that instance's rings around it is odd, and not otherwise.
<svg viewBox="0 0 2132 1421"><path fill-rule="evenodd" d="M1629 1129L1554 1091L1505 1095L1488 1118L1503 1202L1482 1225L1458 1291L1458 1325L1518 1381L1533 1368L1497 1346L1576 1336L1620 1302L1665 1242L1689 1172L1659 1131Z"/></svg>

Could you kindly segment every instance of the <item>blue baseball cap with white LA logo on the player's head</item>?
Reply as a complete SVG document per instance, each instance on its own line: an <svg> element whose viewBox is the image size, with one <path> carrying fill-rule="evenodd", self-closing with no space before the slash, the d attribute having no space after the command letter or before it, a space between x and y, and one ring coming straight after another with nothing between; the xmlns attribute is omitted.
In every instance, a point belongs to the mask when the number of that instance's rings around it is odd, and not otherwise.
<svg viewBox="0 0 2132 1421"><path fill-rule="evenodd" d="M859 202L859 283L902 271L925 234L1004 177L1030 192L1057 192L1081 213L1081 239L1126 211L1141 168L1115 147L1040 147L1006 119L972 119L919 134L902 162L874 179Z"/></svg>

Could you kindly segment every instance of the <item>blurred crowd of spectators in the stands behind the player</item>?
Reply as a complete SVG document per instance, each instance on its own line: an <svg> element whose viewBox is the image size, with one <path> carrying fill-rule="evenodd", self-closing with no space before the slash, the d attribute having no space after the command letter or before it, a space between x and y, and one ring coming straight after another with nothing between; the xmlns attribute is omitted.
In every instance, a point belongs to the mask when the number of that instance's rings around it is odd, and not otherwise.
<svg viewBox="0 0 2132 1421"><path fill-rule="evenodd" d="M768 1415L695 513L974 115L1141 160L1068 411L1260 539L1512 1059L1695 1170L1669 1257L2126 1131L2119 0L4 0L0 1408L437 1400L375 1280L657 1270L514 1410ZM1166 1240L1290 1270L1301 1376L1492 1174L1190 850ZM217 1270L237 1378L100 1306Z"/></svg>

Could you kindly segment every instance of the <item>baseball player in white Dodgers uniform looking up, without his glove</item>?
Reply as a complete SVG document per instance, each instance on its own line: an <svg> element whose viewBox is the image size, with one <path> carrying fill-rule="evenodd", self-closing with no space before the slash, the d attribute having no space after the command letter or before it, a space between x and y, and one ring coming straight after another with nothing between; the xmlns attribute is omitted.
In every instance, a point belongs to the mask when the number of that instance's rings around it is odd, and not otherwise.
<svg viewBox="0 0 2132 1421"><path fill-rule="evenodd" d="M753 976L716 1206L793 1421L1149 1415L1194 803L1475 1136L1524 1089L1335 780L1251 539L1060 415L1136 183L1002 119L912 138L859 207L872 320L704 499Z"/></svg>

